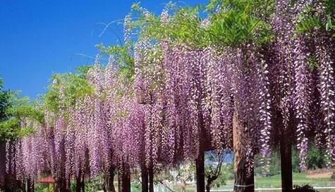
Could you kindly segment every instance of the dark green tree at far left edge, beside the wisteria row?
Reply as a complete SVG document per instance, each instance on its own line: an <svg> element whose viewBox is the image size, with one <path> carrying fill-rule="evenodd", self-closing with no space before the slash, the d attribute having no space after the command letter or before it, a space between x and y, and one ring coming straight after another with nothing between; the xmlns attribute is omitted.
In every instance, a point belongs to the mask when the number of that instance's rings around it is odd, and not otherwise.
<svg viewBox="0 0 335 192"><path fill-rule="evenodd" d="M19 118L32 115L32 111L27 98L19 98L17 93L4 90L3 83L0 78L0 190L10 192L24 189L24 183L18 181L15 170L8 166L14 164L7 155L8 151L16 150L8 146L30 132L28 129L20 129Z"/></svg>

